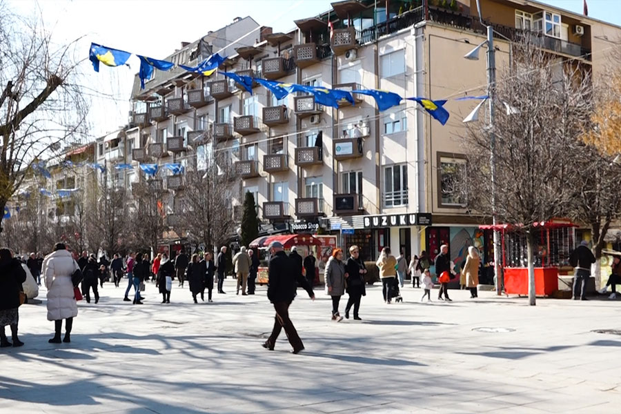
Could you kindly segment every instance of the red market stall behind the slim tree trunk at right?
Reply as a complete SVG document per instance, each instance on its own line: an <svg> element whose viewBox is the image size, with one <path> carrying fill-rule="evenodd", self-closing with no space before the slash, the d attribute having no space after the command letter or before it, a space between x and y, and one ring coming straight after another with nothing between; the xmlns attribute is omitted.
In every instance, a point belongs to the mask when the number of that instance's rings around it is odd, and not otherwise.
<svg viewBox="0 0 621 414"><path fill-rule="evenodd" d="M569 255L575 248L576 226L569 220L553 219L534 227L535 294L549 296L558 290L558 276L571 270ZM528 295L526 235L508 224L480 228L500 231L505 293Z"/></svg>

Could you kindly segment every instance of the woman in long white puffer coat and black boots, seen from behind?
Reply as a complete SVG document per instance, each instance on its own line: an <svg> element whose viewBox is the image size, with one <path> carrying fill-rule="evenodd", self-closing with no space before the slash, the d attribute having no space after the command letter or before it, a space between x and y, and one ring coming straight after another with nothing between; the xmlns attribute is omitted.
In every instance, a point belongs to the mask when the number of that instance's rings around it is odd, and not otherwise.
<svg viewBox="0 0 621 414"><path fill-rule="evenodd" d="M43 260L41 273L48 288L48 321L54 321L55 324L55 335L48 341L50 344L60 344L63 319L66 319L63 342L71 342L73 318L77 316L71 275L77 268L77 263L63 243L55 244L54 252Z"/></svg>

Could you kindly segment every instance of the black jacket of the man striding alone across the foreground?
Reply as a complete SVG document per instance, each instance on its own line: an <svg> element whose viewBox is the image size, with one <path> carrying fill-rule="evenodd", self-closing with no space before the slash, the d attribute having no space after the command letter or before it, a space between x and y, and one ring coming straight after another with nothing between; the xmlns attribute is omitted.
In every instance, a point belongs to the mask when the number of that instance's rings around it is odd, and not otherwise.
<svg viewBox="0 0 621 414"><path fill-rule="evenodd" d="M296 282L308 293L308 296L315 297L313 288L308 284L306 278L291 271L291 259L284 251L279 251L270 258L268 266L268 299L273 304L290 303L295 297L297 289Z"/></svg>

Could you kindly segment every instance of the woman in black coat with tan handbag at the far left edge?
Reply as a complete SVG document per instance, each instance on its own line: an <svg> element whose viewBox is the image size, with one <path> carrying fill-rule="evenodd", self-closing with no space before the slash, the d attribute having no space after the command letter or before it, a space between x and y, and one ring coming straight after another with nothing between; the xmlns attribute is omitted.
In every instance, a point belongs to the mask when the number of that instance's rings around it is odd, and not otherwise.
<svg viewBox="0 0 621 414"><path fill-rule="evenodd" d="M21 284L26 282L26 272L18 259L14 259L8 248L0 249L0 347L22 346L23 342L17 337L17 323L19 322L18 308L23 304L24 295ZM13 343L8 342L4 327L11 327Z"/></svg>

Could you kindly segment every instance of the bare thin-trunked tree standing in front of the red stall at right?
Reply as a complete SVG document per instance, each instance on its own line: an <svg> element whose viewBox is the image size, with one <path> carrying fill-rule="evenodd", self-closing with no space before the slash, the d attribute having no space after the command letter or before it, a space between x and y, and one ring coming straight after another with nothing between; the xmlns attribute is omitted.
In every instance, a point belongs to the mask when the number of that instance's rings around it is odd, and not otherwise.
<svg viewBox="0 0 621 414"><path fill-rule="evenodd" d="M495 134L496 215L526 235L529 303L535 305L535 224L567 213L571 145L590 115L590 73L537 48L513 45L513 63L497 81L493 130L477 126L466 139L464 190L472 210L491 217L490 132ZM504 110L506 109L506 110Z"/></svg>

